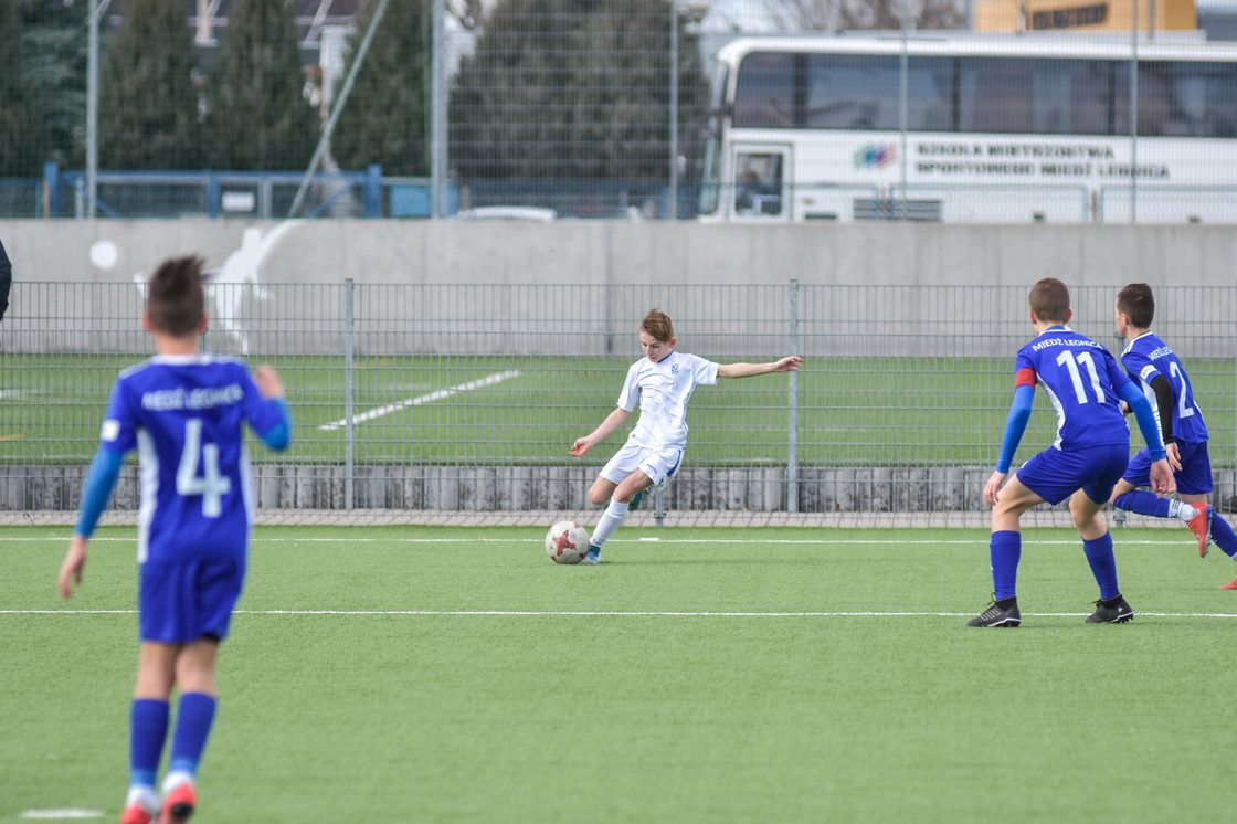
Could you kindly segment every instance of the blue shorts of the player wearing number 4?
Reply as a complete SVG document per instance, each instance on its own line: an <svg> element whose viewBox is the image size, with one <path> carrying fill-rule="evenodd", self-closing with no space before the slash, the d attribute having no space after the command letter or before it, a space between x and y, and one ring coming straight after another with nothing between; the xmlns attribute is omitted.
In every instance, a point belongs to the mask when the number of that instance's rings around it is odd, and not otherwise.
<svg viewBox="0 0 1237 824"><path fill-rule="evenodd" d="M141 640L192 643L202 637L228 637L244 580L242 558L143 563L137 595Z"/></svg>

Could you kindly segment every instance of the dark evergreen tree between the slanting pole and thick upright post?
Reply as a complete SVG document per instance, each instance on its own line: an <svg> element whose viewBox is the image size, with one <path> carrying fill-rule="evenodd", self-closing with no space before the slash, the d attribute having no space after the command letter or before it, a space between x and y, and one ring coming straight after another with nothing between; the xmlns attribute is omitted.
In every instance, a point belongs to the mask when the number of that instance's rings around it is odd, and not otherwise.
<svg viewBox="0 0 1237 824"><path fill-rule="evenodd" d="M356 19L348 71L377 5L369 0ZM429 174L429 6L428 0L387 4L330 137L341 168L379 163L385 174Z"/></svg>

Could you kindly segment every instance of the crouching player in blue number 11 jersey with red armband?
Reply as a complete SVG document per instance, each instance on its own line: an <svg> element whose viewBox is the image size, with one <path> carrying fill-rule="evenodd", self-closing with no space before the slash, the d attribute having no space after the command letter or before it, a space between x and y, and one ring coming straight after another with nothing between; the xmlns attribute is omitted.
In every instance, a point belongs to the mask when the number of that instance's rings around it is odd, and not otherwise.
<svg viewBox="0 0 1237 824"><path fill-rule="evenodd" d="M992 506L993 604L967 626L1022 624L1016 588L1022 557L1018 521L1037 504L1056 505L1066 497L1074 526L1082 537L1082 551L1100 585L1100 600L1087 622L1123 624L1134 616L1117 586L1112 536L1100 517L1129 460L1129 428L1121 401L1133 410L1149 445L1152 489L1162 494L1173 491L1173 470L1147 398L1107 349L1065 325L1070 317L1070 292L1065 283L1055 277L1035 283L1030 291L1030 323L1037 338L1018 350L1013 405L1001 457L983 486L983 500ZM1002 487L1027 429L1037 386L1043 386L1056 408L1056 440L1023 464Z"/></svg>

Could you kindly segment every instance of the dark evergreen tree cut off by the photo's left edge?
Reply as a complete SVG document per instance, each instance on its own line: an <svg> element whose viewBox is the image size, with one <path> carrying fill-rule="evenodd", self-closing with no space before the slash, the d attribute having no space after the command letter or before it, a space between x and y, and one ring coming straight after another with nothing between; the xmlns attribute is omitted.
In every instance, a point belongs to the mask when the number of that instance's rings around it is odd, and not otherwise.
<svg viewBox="0 0 1237 824"><path fill-rule="evenodd" d="M22 69L19 0L0 0L0 31L16 48L0 49L0 177L42 173L43 122Z"/></svg>

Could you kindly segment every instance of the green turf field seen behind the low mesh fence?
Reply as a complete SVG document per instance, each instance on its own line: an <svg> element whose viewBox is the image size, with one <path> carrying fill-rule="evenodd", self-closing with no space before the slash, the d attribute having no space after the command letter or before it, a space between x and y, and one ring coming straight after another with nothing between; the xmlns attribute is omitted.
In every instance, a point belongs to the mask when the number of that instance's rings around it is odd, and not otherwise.
<svg viewBox="0 0 1237 824"><path fill-rule="evenodd" d="M359 464L560 465L571 442L614 408L633 356L383 356L354 370ZM0 353L0 464L80 463L98 444L116 372L140 356ZM261 363L256 359L254 363ZM338 358L278 358L297 434L263 463L341 464L345 370ZM797 374L798 460L819 466L988 465L1004 431L1013 358L809 358ZM1237 367L1189 364L1206 410L1211 459L1237 450ZM1050 444L1056 418L1037 401L1019 457ZM722 381L695 393L689 465L787 460L787 376ZM1136 427L1137 429L1137 427ZM618 437L611 439L618 442ZM1142 436L1133 433L1133 443ZM604 461L600 454L595 458Z"/></svg>

